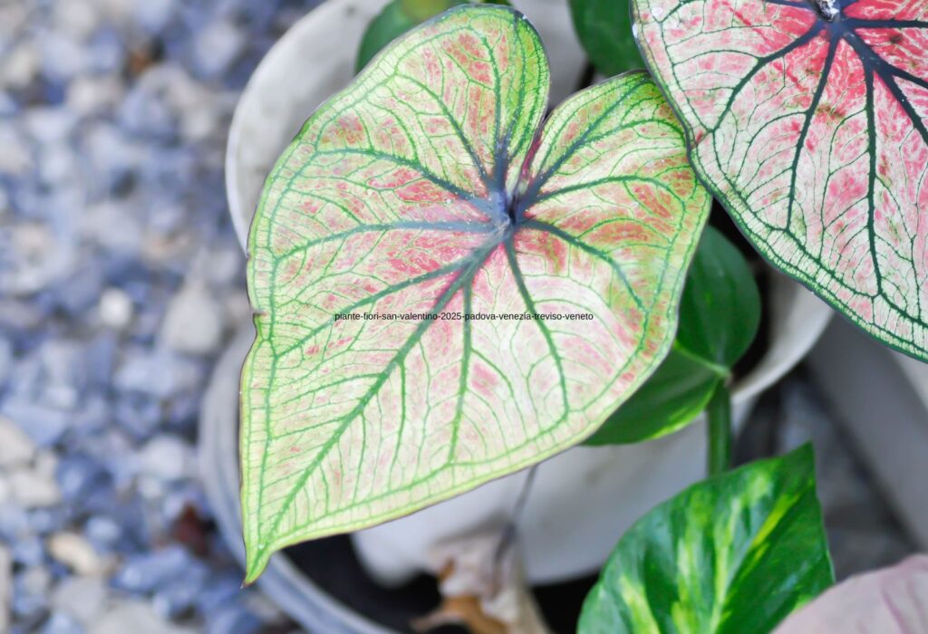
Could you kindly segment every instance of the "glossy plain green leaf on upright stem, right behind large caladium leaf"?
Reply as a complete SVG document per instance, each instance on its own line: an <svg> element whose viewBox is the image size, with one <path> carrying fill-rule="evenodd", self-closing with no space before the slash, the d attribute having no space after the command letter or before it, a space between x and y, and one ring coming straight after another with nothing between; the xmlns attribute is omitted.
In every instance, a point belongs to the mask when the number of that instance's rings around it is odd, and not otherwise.
<svg viewBox="0 0 928 634"><path fill-rule="evenodd" d="M664 362L587 445L641 442L689 425L754 341L760 291L738 248L712 226L687 273L679 323Z"/></svg>

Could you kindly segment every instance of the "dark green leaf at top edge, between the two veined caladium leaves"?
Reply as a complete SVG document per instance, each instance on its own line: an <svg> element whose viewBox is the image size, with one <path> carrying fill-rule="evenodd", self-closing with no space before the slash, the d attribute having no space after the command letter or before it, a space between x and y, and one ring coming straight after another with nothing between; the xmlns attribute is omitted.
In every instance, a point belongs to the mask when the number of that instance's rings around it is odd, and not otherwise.
<svg viewBox="0 0 928 634"><path fill-rule="evenodd" d="M571 15L580 44L604 75L645 68L632 37L628 0L571 0Z"/></svg>

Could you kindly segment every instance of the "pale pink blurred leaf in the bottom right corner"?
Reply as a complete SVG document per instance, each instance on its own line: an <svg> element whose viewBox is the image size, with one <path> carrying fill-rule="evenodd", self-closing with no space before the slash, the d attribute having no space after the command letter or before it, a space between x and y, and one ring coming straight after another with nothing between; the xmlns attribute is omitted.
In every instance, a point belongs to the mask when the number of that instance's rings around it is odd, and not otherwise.
<svg viewBox="0 0 928 634"><path fill-rule="evenodd" d="M851 577L791 615L776 634L928 633L928 555Z"/></svg>

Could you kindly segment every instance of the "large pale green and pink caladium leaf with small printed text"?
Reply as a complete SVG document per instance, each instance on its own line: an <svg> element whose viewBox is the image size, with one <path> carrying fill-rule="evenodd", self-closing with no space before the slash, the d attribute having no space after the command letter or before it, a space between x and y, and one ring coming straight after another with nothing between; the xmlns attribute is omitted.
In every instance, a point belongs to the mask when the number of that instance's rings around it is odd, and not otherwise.
<svg viewBox="0 0 928 634"><path fill-rule="evenodd" d="M528 21L461 6L278 161L249 247L249 580L569 448L663 359L709 203L682 132L646 73L537 133L547 95Z"/></svg>

